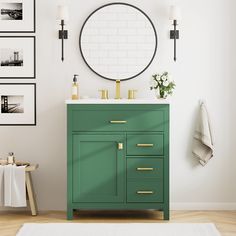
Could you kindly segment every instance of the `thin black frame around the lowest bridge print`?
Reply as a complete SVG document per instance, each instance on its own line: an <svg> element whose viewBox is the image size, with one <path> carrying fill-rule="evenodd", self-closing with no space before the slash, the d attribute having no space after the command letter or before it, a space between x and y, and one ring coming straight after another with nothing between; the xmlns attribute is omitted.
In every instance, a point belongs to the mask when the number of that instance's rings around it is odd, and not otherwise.
<svg viewBox="0 0 236 236"><path fill-rule="evenodd" d="M37 94L36 94L36 83L0 83L0 88L2 85L18 85L18 86L25 86L25 85L32 85L33 86L33 93L34 93L34 102L33 102L33 105L34 105L34 110L33 110L33 114L34 114L34 119L33 119L33 122L31 124L12 124L12 123L9 123L9 124L2 124L0 122L0 126L36 126L37 125L37 102L36 102L36 99L37 99ZM1 102L1 100L0 100ZM1 115L1 114L0 114Z"/></svg>

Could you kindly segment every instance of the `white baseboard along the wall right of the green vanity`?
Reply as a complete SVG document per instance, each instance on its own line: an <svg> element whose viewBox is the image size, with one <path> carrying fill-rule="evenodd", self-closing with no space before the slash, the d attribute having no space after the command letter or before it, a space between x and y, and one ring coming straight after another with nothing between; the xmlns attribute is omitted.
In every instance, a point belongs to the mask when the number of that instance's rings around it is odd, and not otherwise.
<svg viewBox="0 0 236 236"><path fill-rule="evenodd" d="M207 210L225 210L233 211L236 210L236 202L173 202L170 204L171 210L197 210L197 211L207 211Z"/></svg>

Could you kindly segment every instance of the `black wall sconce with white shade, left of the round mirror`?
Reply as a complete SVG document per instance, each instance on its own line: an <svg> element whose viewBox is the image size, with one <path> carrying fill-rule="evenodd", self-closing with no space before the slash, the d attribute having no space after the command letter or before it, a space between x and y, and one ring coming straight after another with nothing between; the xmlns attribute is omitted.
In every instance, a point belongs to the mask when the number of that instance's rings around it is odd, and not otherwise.
<svg viewBox="0 0 236 236"><path fill-rule="evenodd" d="M69 20L67 6L58 6L57 19L61 21L61 30L59 30L58 38L61 39L61 60L64 61L64 40L68 39L68 31L64 30L65 21Z"/></svg>

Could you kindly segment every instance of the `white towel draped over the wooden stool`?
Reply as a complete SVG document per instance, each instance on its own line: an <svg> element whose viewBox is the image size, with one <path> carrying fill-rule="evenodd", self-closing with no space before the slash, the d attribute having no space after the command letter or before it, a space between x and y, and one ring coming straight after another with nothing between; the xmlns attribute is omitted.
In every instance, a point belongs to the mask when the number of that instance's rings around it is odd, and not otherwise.
<svg viewBox="0 0 236 236"><path fill-rule="evenodd" d="M5 166L4 205L10 207L26 206L25 166Z"/></svg>

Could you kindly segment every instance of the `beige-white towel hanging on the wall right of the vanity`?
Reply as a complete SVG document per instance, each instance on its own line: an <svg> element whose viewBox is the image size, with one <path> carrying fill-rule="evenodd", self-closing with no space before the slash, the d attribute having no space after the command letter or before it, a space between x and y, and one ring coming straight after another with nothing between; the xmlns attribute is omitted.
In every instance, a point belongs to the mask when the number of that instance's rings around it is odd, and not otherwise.
<svg viewBox="0 0 236 236"><path fill-rule="evenodd" d="M198 158L199 163L205 166L213 157L213 137L206 105L201 103L200 114L194 132L193 155Z"/></svg>

